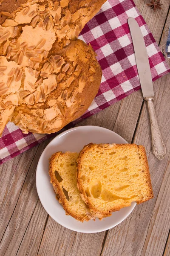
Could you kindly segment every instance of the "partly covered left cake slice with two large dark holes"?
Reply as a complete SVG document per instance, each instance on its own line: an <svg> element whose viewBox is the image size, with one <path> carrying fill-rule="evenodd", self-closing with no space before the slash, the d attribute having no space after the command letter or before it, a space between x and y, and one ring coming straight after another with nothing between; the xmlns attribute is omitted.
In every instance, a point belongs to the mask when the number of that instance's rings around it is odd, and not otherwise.
<svg viewBox="0 0 170 256"><path fill-rule="evenodd" d="M56 198L65 209L66 215L71 215L78 221L95 219L88 206L81 198L77 188L77 157L78 153L57 152L49 159L49 175Z"/></svg>

